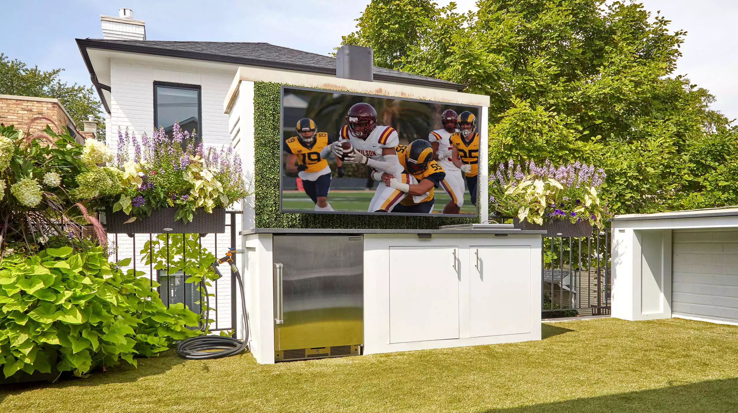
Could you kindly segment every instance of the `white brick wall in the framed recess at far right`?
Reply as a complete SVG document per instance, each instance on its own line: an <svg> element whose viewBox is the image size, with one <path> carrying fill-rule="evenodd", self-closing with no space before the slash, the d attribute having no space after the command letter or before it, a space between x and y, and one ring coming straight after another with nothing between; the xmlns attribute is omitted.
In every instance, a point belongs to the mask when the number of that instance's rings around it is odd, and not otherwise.
<svg viewBox="0 0 738 413"><path fill-rule="evenodd" d="M672 248L672 314L738 324L738 230L674 230Z"/></svg>

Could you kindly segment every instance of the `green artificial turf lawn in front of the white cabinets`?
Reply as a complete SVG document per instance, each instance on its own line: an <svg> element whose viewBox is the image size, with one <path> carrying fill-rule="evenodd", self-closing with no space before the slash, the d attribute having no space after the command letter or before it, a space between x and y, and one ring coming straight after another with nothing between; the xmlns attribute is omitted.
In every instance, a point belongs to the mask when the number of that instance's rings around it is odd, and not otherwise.
<svg viewBox="0 0 738 413"><path fill-rule="evenodd" d="M170 352L137 369L6 386L0 412L738 412L738 327L542 328L542 341L274 365Z"/></svg>

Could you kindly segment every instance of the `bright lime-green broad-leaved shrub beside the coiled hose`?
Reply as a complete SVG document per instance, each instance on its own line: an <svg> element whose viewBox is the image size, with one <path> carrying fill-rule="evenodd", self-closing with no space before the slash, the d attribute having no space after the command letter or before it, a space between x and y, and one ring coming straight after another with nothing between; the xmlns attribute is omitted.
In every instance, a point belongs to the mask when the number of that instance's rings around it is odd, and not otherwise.
<svg viewBox="0 0 738 413"><path fill-rule="evenodd" d="M100 246L75 252L45 249L0 263L0 366L4 377L20 372L71 372L82 376L134 356L154 356L174 341L199 332L199 316L169 308L142 278L121 271Z"/></svg>

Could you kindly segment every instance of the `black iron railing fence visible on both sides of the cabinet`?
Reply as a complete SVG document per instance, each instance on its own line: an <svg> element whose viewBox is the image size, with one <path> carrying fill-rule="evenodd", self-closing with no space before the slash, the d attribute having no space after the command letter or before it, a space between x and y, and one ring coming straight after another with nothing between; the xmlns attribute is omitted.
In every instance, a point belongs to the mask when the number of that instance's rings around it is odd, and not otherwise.
<svg viewBox="0 0 738 413"><path fill-rule="evenodd" d="M199 247L207 249L215 257L221 257L227 249L242 249L241 211L227 211L224 234L202 235ZM142 251L148 242L159 234L111 234L108 243L114 247L116 261L131 258L123 268L142 271L143 277L156 281L159 296L165 304L182 302L190 309L201 312L205 299L210 308L211 331L235 330L237 322L238 288L229 265L219 265L222 277L207 287L209 297L201 296L198 285L187 282L185 271L170 273L169 246L172 237L162 236L163 248L167 249L165 265L142 263L147 251ZM180 242L181 245L181 242ZM159 248L162 248L161 246ZM148 251L151 254L151 251ZM171 251L171 257L179 251ZM184 259L186 251L179 255ZM236 255L236 264L241 267L242 254ZM594 316L610 314L610 229L594 229L590 237L543 237L542 240L542 318L572 316Z"/></svg>

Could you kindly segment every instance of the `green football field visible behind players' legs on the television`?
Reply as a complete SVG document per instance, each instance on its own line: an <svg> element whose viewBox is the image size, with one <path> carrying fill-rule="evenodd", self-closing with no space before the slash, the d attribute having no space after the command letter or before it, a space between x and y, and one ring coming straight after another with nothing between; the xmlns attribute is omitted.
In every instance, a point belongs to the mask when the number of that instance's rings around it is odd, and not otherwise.
<svg viewBox="0 0 738 413"><path fill-rule="evenodd" d="M328 194L328 203L333 206L336 211L356 211L367 212L369 202L374 196L373 190L337 190ZM434 213L441 213L444 206L451 201L446 192L436 190L434 192L435 206ZM283 191L282 192L282 209L303 209L312 211L315 208L313 201L308 195L302 191ZM469 202L469 192L464 192L464 204L461 207L462 214L474 214L474 205Z"/></svg>

